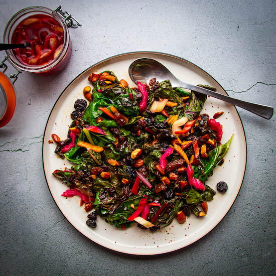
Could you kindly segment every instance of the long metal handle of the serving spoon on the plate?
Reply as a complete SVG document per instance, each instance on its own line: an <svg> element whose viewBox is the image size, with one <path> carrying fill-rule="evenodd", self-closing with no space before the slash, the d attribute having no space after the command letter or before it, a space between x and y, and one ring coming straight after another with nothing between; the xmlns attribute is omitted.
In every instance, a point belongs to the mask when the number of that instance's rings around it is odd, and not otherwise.
<svg viewBox="0 0 276 276"><path fill-rule="evenodd" d="M231 98L229 96L225 96L222 95L220 93L199 87L199 86L195 86L186 82L179 82L177 86L186 88L186 89L190 89L205 95L209 95L212 96L214 98L229 102L233 105L237 105L243 109L246 109L256 115L259 115L265 119L270 119L273 115L273 107L272 106L268 106L268 105L262 105L262 104L257 104L257 103L251 103L251 102L246 102L246 101L242 101L242 100L238 100L238 99L234 99Z"/></svg>

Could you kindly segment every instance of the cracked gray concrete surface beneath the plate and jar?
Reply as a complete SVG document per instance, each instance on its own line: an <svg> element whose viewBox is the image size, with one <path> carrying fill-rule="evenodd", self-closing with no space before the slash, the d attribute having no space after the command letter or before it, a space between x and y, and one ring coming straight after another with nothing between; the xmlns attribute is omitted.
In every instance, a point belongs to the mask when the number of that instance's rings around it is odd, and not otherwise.
<svg viewBox="0 0 276 276"><path fill-rule="evenodd" d="M60 1L83 26L54 77L24 73L18 105L0 129L0 275L272 275L275 273L275 115L240 110L248 146L240 193L223 221L173 253L135 257L102 248L63 217L42 169L44 127L58 95L91 64L129 51L184 57L231 96L275 106L275 1ZM10 17L55 1L0 0L0 36ZM0 53L0 59L4 57Z"/></svg>

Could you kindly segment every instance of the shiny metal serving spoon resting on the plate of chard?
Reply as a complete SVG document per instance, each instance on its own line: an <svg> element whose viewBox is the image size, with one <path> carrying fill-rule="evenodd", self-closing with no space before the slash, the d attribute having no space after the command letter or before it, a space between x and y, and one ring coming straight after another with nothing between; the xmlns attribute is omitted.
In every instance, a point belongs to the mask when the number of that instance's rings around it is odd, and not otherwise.
<svg viewBox="0 0 276 276"><path fill-rule="evenodd" d="M142 83L145 83L145 82L148 83L149 80L153 77L156 78L158 81L169 79L173 87L182 87L182 88L190 89L205 95L212 96L214 98L217 98L217 99L229 102L233 105L237 105L241 108L244 108L265 119L270 119L273 115L272 106L234 99L229 96L225 96L217 92L211 91L209 89L205 89L196 85L183 82L178 78L176 78L163 64L161 64L160 62L154 59L141 58L141 59L134 60L128 68L128 74L134 83L136 83L137 81L140 81Z"/></svg>

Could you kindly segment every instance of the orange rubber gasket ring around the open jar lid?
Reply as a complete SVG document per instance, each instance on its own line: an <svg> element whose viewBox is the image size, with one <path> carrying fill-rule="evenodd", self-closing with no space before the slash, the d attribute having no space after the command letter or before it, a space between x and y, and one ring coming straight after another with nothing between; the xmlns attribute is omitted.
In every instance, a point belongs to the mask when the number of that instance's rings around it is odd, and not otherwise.
<svg viewBox="0 0 276 276"><path fill-rule="evenodd" d="M7 110L3 118L0 120L0 127L6 125L13 117L16 109L16 94L14 85L10 79L2 72L0 72L0 84L5 90L7 97Z"/></svg>

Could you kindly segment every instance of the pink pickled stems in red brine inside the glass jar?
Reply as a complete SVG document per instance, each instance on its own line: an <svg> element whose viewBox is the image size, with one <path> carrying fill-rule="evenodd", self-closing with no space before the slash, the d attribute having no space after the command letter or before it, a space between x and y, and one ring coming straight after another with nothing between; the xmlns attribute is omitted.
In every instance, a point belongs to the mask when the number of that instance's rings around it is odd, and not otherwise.
<svg viewBox="0 0 276 276"><path fill-rule="evenodd" d="M12 43L29 43L26 48L15 49L16 58L25 65L47 65L60 54L64 32L58 21L47 15L34 15L23 20L15 29Z"/></svg>

